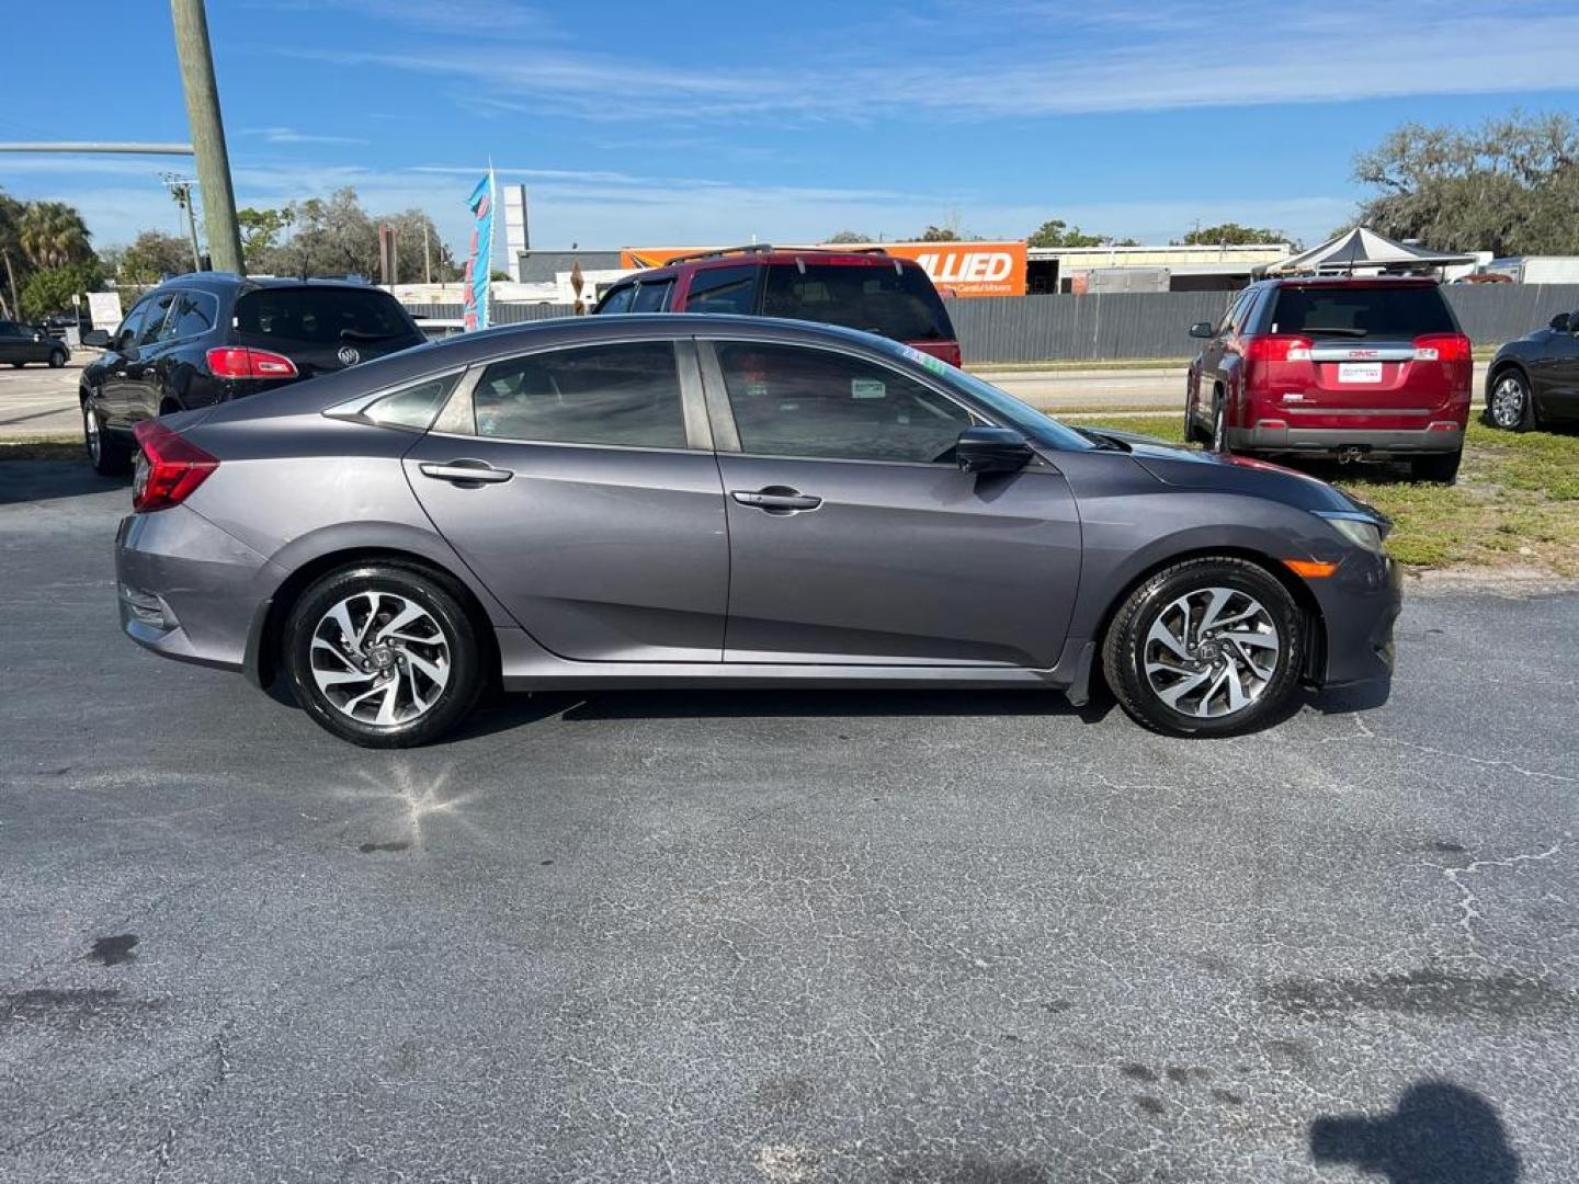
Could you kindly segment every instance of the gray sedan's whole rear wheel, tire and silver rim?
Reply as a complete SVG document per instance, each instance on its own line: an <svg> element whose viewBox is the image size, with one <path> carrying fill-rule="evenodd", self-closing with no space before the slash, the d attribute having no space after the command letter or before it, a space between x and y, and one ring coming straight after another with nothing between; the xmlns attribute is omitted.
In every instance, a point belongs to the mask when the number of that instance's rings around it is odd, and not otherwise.
<svg viewBox="0 0 1579 1184"><path fill-rule="evenodd" d="M477 635L448 581L393 564L341 568L286 620L286 674L319 725L368 748L448 733L477 701Z"/></svg>

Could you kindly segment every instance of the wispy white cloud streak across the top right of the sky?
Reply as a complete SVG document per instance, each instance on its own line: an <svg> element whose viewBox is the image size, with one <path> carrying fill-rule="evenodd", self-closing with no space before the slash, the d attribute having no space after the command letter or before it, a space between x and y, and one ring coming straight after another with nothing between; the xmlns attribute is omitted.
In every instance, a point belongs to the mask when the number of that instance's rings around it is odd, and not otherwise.
<svg viewBox="0 0 1579 1184"><path fill-rule="evenodd" d="M1468 0L1453 13L1424 0L1224 0L1210 21L1156 5L960 3L952 13L941 30L900 25L892 39L801 55L794 69L532 41L294 52L469 79L497 109L587 120L870 120L917 111L971 120L1579 87L1579 14L1508 0ZM1514 35L1519 52L1489 69L1486 46ZM613 79L641 101L609 103Z"/></svg>

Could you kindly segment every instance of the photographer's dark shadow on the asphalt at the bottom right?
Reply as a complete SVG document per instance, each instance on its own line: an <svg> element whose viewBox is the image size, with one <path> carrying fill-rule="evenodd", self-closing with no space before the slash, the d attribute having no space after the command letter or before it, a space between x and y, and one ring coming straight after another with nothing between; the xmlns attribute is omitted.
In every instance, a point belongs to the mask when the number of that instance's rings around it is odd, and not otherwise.
<svg viewBox="0 0 1579 1184"><path fill-rule="evenodd" d="M1497 1107L1451 1081L1418 1081L1391 1115L1311 1122L1311 1157L1386 1176L1388 1184L1514 1184L1519 1156Z"/></svg>

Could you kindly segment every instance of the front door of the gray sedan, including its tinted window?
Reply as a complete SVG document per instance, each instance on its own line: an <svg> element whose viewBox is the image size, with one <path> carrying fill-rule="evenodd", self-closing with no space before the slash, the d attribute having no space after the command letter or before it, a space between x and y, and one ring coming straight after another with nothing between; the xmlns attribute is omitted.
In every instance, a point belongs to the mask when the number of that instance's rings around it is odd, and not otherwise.
<svg viewBox="0 0 1579 1184"><path fill-rule="evenodd" d="M1080 523L1050 463L962 472L954 444L987 420L867 355L699 344L728 494L725 661L1056 661Z"/></svg>

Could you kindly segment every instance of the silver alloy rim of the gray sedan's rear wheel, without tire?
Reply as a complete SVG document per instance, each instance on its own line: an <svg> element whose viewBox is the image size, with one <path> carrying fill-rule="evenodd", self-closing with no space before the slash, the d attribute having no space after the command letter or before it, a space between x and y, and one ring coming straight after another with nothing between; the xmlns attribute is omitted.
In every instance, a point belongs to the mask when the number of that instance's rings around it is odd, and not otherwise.
<svg viewBox="0 0 1579 1184"><path fill-rule="evenodd" d="M357 592L313 628L311 673L341 715L376 726L426 715L450 685L450 639L426 608L395 592Z"/></svg>

